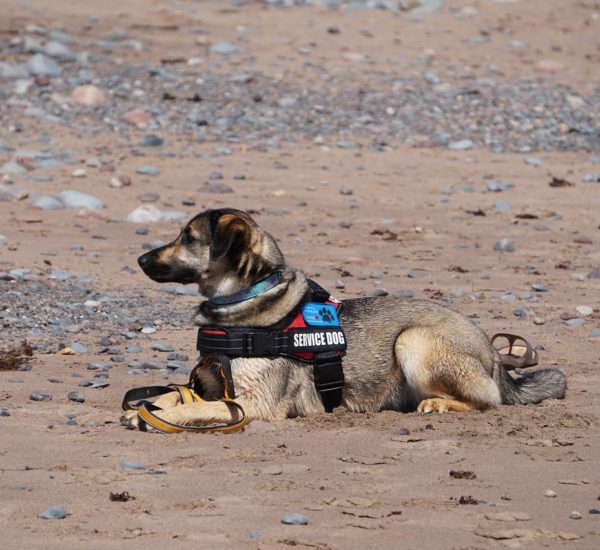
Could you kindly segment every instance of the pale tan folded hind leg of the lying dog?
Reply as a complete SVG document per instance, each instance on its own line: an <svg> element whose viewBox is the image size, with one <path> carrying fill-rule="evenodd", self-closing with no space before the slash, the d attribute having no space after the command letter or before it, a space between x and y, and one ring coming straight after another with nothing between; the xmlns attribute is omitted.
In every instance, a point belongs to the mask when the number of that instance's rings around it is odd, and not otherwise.
<svg viewBox="0 0 600 550"><path fill-rule="evenodd" d="M420 400L418 411L462 412L500 405L500 391L483 365L485 358L460 349L431 329L408 329L395 349L406 384Z"/></svg>

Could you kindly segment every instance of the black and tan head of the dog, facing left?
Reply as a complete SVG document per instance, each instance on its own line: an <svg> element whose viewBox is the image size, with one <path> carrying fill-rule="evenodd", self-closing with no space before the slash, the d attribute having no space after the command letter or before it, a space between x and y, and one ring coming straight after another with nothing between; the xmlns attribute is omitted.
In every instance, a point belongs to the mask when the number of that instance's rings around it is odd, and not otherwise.
<svg viewBox="0 0 600 550"><path fill-rule="evenodd" d="M138 264L159 283L196 283L208 297L217 290L235 292L285 267L273 237L232 208L198 214L174 241L140 256Z"/></svg>

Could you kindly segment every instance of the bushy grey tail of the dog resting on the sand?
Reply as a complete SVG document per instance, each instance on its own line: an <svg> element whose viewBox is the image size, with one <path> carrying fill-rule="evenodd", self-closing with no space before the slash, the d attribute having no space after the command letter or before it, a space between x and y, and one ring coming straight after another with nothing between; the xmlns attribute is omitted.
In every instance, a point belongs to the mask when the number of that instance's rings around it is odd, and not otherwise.
<svg viewBox="0 0 600 550"><path fill-rule="evenodd" d="M563 399L567 390L567 378L563 369L526 372L513 378L502 365L496 364L493 378L500 389L504 405L527 405L544 399Z"/></svg>

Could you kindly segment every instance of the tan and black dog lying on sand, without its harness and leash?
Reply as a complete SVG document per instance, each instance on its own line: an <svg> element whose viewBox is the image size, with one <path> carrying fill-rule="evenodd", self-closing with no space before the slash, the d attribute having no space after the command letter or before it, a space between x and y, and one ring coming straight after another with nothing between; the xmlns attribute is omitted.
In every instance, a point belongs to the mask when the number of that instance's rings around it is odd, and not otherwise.
<svg viewBox="0 0 600 550"><path fill-rule="evenodd" d="M273 237L247 213L234 209L198 214L173 242L138 262L154 281L199 286L208 298L195 317L200 327L270 327L293 312L309 288L304 273L286 265ZM277 284L255 296L243 294L276 272ZM236 294L245 298L233 303L223 299ZM441 413L565 396L561 369L513 378L481 329L440 304L389 296L356 298L344 300L340 319L347 343L341 404L351 411ZM218 377L209 372L199 376L208 399L223 396L224 383ZM235 401L250 420L323 411L312 366L305 361L236 357L231 377ZM187 426L233 422L238 414L222 401L179 405L176 392L162 396L156 405L162 409L158 417ZM136 427L135 411L127 412L123 421Z"/></svg>

